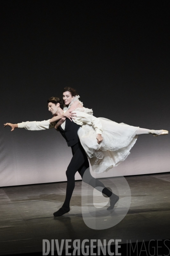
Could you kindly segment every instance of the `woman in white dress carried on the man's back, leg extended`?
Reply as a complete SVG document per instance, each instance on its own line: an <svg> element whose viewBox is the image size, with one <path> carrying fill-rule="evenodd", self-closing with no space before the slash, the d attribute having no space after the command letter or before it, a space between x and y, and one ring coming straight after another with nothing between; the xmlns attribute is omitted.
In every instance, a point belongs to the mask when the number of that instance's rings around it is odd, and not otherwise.
<svg viewBox="0 0 170 256"><path fill-rule="evenodd" d="M80 112L82 112L82 117L85 113L93 116L92 109L83 107L83 103L79 101L79 95L73 88L64 88L63 101L65 104L63 111L70 113L74 111L75 115L72 120L77 124L80 124L80 119L77 117L80 116ZM88 118L90 119L90 117ZM83 118L81 119L81 128L78 130L79 140L90 160L93 171L97 173L107 172L113 166L122 163L130 154L130 149L136 143L138 135L153 134L153 136L158 136L168 134L166 130L139 128L124 123L116 123L102 117L97 119L101 124L102 134L99 132L96 136L96 131L91 122L88 123L87 120L83 122ZM51 123L56 121L55 128L58 128L65 121L65 118L59 120L59 116L54 116L50 120Z"/></svg>

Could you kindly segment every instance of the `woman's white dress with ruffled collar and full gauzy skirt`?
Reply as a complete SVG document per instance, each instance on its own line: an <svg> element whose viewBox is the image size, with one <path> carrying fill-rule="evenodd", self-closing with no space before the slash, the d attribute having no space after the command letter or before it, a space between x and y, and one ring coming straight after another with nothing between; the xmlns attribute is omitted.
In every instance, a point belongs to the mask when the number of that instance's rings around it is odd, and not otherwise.
<svg viewBox="0 0 170 256"><path fill-rule="evenodd" d="M76 100L79 101L79 96L75 96L69 107L64 107L64 111L68 110ZM83 106L82 102L80 104ZM76 108L75 111L83 111L93 115L92 109L89 108ZM107 172L127 158L130 149L136 143L138 137L136 133L139 127L116 123L103 117L97 119L102 123L103 140L101 143L97 143L96 131L92 125L87 123L83 123L82 127L79 128L78 136L90 160L92 170L100 173Z"/></svg>

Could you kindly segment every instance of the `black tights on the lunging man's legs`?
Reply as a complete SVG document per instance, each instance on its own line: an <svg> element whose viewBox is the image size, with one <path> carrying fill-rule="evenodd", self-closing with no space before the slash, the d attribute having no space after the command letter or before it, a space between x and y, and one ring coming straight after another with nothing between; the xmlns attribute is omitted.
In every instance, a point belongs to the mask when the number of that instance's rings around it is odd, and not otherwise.
<svg viewBox="0 0 170 256"><path fill-rule="evenodd" d="M65 197L65 201L64 204L62 205L62 207L64 208L68 208L69 204L70 204L70 200L71 200L71 196L74 190L74 186L75 186L75 174L78 171L79 174L81 175L81 177L83 177L83 174L85 172L85 170L89 167L89 163L88 163L88 158L85 154L85 151L81 145L81 143L77 143L76 145L71 147L72 149L72 153L73 153L73 157L71 159L71 162L68 165L67 171L66 171L66 176L67 176L67 189L66 189L66 197ZM91 186L93 186L94 188L96 186L102 187L103 190L102 192L107 195L108 197L110 197L112 195L112 192L105 188L105 185L95 179L94 177L91 176L90 170L88 169L89 175L88 177L90 177L90 182L88 182L88 180L84 180L86 183L89 183Z"/></svg>

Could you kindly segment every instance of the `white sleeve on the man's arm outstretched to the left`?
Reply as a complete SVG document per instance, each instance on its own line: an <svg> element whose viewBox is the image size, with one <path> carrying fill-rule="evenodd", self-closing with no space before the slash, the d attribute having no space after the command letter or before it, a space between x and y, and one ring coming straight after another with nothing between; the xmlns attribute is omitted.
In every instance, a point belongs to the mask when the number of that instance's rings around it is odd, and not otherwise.
<svg viewBox="0 0 170 256"><path fill-rule="evenodd" d="M25 128L30 131L40 131L54 128L54 123L50 123L50 119L44 121L32 121L18 123L18 128Z"/></svg>

